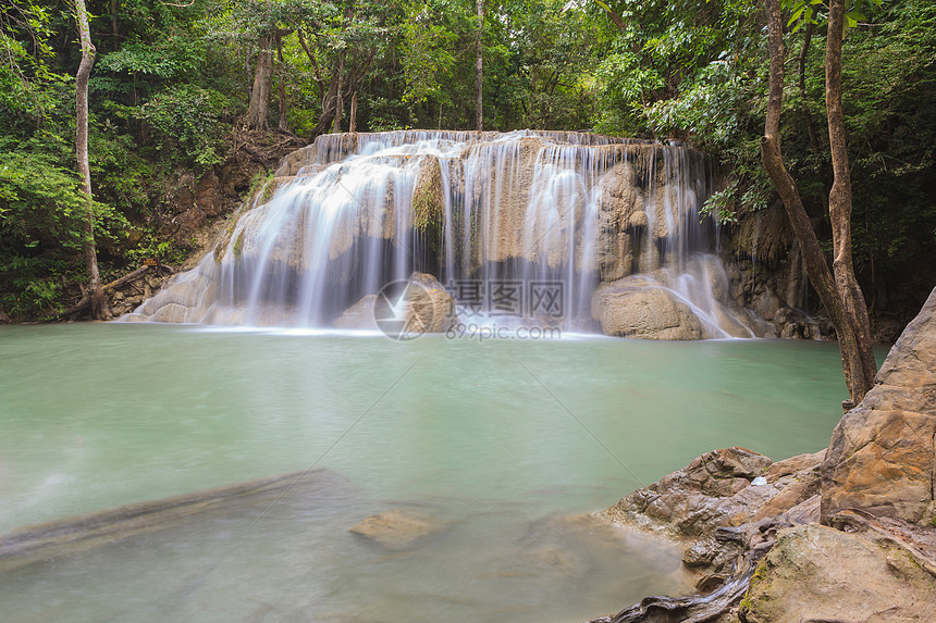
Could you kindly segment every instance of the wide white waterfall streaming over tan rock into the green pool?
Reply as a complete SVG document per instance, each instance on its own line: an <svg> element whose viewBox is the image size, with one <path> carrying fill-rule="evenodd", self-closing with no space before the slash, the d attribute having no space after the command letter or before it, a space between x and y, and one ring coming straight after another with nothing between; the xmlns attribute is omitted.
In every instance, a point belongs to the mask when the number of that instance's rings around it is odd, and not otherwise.
<svg viewBox="0 0 936 623"><path fill-rule="evenodd" d="M713 226L700 221L710 191L703 154L656 142L530 130L325 135L284 160L196 269L124 319L348 326L345 310L423 272L463 321L753 336L711 252ZM656 299L635 298L648 291ZM663 331L621 312L658 315L661 300L672 312Z"/></svg>

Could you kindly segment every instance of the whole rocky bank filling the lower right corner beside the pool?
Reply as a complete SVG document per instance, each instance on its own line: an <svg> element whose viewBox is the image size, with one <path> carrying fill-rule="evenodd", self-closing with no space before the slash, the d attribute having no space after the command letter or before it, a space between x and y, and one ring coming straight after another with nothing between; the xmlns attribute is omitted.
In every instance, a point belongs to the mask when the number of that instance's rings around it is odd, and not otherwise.
<svg viewBox="0 0 936 623"><path fill-rule="evenodd" d="M599 519L685 546L698 595L599 622L936 621L936 289L829 448L715 450Z"/></svg>

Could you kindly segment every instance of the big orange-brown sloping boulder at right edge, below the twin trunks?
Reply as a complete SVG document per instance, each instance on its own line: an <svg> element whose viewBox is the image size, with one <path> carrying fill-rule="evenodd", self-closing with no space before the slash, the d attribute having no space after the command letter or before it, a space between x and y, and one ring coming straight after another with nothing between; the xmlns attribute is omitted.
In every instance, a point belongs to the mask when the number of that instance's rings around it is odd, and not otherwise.
<svg viewBox="0 0 936 623"><path fill-rule="evenodd" d="M823 522L857 508L929 523L936 518L936 290L833 432L823 463Z"/></svg>

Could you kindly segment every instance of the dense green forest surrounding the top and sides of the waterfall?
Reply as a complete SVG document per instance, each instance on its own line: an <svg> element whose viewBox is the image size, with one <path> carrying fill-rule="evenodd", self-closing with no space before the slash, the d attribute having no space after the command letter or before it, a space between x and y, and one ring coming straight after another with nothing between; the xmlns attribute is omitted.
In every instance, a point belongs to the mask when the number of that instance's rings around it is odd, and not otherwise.
<svg viewBox="0 0 936 623"><path fill-rule="evenodd" d="M186 175L251 140L327 132L586 129L707 151L726 224L776 201L760 160L768 58L752 0L91 0L95 237L104 281L192 247L163 213ZM818 0L785 4L781 135L821 239L829 148ZM480 17L479 17L480 15ZM936 7L860 1L843 100L854 253L869 299L936 247ZM0 0L0 316L51 317L79 296L74 5ZM267 136L268 138L262 138ZM272 137L272 138L270 138ZM927 258L929 260L927 260Z"/></svg>

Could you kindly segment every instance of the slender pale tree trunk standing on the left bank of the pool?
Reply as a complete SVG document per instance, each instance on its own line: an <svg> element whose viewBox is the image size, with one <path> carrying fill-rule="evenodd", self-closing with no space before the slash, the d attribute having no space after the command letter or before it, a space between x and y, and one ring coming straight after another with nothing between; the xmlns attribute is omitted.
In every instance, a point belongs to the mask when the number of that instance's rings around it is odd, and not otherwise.
<svg viewBox="0 0 936 623"><path fill-rule="evenodd" d="M78 161L78 175L81 175L82 192L87 198L87 214L84 225L84 242L82 245L85 257L85 267L88 272L88 291L90 298L91 317L102 320L110 317L107 299L101 290L101 276L98 272L98 254L95 247L95 211L91 195L91 170L88 164L88 76L95 64L95 49L91 43L90 28L88 27L88 11L85 0L75 0L75 9L78 22L78 34L82 42L82 63L75 76L75 109L77 116L77 130L75 132L75 155Z"/></svg>

